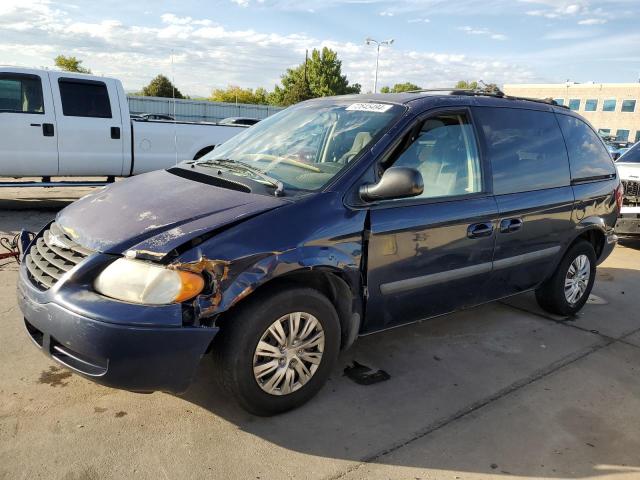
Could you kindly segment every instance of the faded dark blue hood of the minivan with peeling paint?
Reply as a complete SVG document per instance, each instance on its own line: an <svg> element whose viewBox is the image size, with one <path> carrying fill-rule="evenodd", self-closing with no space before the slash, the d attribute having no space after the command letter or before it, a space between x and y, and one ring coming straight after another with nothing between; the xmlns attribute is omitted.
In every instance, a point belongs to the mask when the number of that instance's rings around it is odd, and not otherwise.
<svg viewBox="0 0 640 480"><path fill-rule="evenodd" d="M162 257L198 235L286 203L159 170L81 198L59 212L56 222L92 250Z"/></svg>

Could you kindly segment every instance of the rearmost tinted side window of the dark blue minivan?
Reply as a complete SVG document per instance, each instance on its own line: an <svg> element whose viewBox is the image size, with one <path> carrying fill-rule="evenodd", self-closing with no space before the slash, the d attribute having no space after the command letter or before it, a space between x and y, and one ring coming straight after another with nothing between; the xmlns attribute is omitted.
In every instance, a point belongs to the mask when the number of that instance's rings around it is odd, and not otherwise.
<svg viewBox="0 0 640 480"><path fill-rule="evenodd" d="M556 115L564 135L573 181L609 178L616 168L602 140L584 121L569 115Z"/></svg>

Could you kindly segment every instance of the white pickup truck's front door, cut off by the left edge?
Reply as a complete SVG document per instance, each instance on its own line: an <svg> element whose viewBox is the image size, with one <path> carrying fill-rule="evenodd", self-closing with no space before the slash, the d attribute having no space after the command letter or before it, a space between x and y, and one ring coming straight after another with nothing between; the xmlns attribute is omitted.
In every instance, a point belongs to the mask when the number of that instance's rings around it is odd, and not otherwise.
<svg viewBox="0 0 640 480"><path fill-rule="evenodd" d="M0 176L58 173L58 136L49 77L0 69Z"/></svg>

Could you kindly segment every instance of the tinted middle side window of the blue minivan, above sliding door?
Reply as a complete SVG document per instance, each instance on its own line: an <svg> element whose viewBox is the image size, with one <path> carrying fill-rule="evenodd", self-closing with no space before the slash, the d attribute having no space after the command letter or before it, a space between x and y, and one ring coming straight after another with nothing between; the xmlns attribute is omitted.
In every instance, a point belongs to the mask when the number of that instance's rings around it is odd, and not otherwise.
<svg viewBox="0 0 640 480"><path fill-rule="evenodd" d="M567 186L567 150L553 113L515 108L474 110L486 142L496 195Z"/></svg>

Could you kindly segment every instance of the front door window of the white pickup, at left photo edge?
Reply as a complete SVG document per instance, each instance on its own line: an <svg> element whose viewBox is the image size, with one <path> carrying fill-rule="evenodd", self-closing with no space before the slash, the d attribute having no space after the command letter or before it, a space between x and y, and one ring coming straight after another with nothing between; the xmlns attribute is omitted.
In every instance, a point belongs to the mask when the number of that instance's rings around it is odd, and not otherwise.
<svg viewBox="0 0 640 480"><path fill-rule="evenodd" d="M0 111L44 113L40 77L37 75L0 73Z"/></svg>

